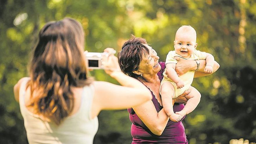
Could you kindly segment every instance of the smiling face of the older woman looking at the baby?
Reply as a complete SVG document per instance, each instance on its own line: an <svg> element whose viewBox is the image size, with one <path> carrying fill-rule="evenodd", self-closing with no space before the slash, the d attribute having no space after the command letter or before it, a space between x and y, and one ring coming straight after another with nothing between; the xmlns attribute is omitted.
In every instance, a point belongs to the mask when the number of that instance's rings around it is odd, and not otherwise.
<svg viewBox="0 0 256 144"><path fill-rule="evenodd" d="M143 56L138 71L141 72L143 76L146 74L155 75L161 70L161 66L158 63L159 56L157 56L157 52L152 47L149 45L145 46L148 48L149 54Z"/></svg>

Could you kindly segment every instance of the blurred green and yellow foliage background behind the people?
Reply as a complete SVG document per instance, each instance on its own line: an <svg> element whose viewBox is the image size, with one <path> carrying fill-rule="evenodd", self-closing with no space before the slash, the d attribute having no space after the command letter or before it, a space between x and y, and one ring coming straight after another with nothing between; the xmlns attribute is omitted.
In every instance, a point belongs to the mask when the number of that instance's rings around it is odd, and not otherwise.
<svg viewBox="0 0 256 144"><path fill-rule="evenodd" d="M214 55L220 69L194 79L201 102L183 121L190 144L256 141L255 0L0 0L0 143L27 143L13 86L28 76L31 49L42 26L72 17L83 25L88 51L117 51L130 34L146 38L165 61L175 32L190 24L197 49ZM117 83L102 70L96 80ZM127 110L102 111L95 144L131 143Z"/></svg>

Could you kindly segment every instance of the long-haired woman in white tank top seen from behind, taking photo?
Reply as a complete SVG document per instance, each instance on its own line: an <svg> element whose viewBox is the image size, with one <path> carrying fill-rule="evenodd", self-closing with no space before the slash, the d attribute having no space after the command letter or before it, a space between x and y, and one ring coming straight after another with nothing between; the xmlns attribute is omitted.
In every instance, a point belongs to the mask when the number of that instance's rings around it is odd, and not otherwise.
<svg viewBox="0 0 256 144"><path fill-rule="evenodd" d="M83 28L74 19L49 22L40 30L29 77L14 86L29 143L93 143L101 110L125 109L152 98L141 82L121 72L113 54L104 61L105 72L122 86L93 81L83 49Z"/></svg>

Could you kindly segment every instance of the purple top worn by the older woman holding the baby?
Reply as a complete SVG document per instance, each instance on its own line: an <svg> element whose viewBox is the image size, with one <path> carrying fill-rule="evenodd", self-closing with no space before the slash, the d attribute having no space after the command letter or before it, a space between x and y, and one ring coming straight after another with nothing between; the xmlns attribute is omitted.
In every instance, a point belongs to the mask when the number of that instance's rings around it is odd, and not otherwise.
<svg viewBox="0 0 256 144"><path fill-rule="evenodd" d="M161 70L157 73L157 75L160 81L162 81L163 72L165 69L165 62L160 62L159 64L161 65ZM157 112L159 112L163 107L160 106L159 102L157 101L152 91L151 91L151 94L153 97L152 98L153 104ZM174 104L173 111L174 112L181 111L183 108L184 108L184 104ZM132 108L128 109L128 112L129 112L130 121L132 122L131 124L132 144L137 144L137 143L188 144L188 140L186 139L186 134L185 134L185 128L182 124L182 120L185 118L185 116L179 122L173 122L169 120L162 135L157 136L153 134L146 127L146 125L141 121L141 119L138 117L138 115L134 112Z"/></svg>

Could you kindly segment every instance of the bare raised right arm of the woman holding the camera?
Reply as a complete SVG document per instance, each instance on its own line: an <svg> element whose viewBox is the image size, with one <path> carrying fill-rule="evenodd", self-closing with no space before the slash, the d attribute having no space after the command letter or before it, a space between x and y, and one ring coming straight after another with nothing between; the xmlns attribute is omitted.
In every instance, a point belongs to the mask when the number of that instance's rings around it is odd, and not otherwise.
<svg viewBox="0 0 256 144"><path fill-rule="evenodd" d="M107 48L105 51L111 54L113 49ZM118 59L113 54L104 60L104 69L122 86L103 81L94 82L91 118L97 116L101 110L131 108L152 99L150 90L143 83L121 72Z"/></svg>

